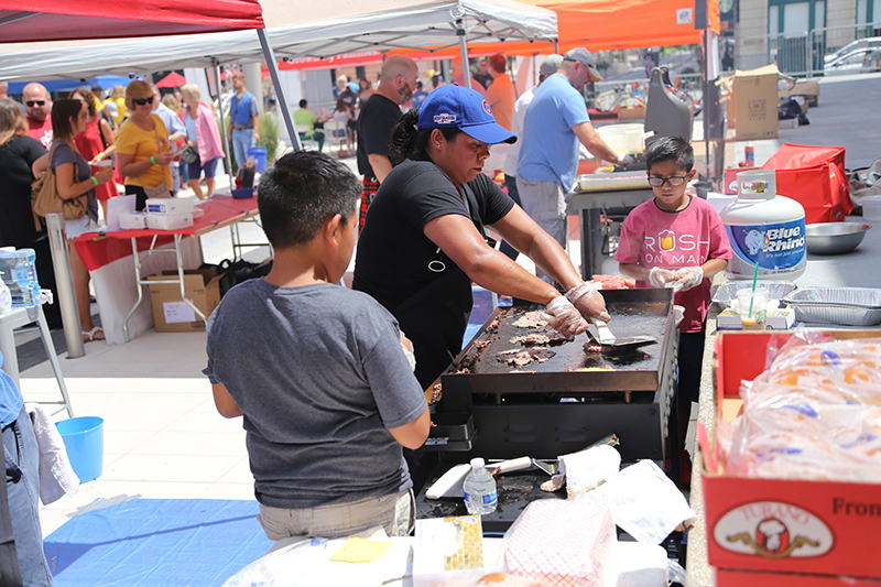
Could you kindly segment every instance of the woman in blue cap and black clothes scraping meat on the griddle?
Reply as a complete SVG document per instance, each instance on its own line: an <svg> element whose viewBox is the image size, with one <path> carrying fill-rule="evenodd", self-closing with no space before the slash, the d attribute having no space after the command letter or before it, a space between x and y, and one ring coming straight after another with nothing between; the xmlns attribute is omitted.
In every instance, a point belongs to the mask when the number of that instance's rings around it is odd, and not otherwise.
<svg viewBox="0 0 881 587"><path fill-rule="evenodd" d="M565 251L482 174L490 145L516 137L480 94L443 86L392 132L401 161L377 192L358 240L352 287L385 306L413 341L416 379L427 388L461 350L474 305L471 282L540 304L551 327L572 336L583 316L608 320L606 302ZM486 239L491 227L568 289L527 273ZM494 244L494 243L492 243Z"/></svg>

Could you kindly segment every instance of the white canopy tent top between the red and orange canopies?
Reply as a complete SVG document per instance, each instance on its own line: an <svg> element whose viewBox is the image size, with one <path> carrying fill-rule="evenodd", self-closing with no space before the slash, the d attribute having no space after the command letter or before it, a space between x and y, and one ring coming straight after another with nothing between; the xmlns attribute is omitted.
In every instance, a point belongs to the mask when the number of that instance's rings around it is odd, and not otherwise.
<svg viewBox="0 0 881 587"><path fill-rule="evenodd" d="M261 4L268 44L282 59L459 45L467 62L466 43L550 41L557 31L553 11L514 0L335 0L301 6L263 0ZM330 11L339 15L327 19ZM254 63L264 59L267 48L250 31L35 45L0 45L0 80L85 79L99 74L142 75ZM270 73L278 88L278 74L274 68ZM283 110L286 115L287 108ZM297 144L287 116L285 123L292 143Z"/></svg>

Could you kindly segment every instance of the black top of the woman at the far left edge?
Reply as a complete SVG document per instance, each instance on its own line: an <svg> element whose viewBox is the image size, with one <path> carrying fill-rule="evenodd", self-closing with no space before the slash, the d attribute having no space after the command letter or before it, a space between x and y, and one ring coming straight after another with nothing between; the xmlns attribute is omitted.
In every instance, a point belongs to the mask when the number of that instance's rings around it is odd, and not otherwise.
<svg viewBox="0 0 881 587"><path fill-rule="evenodd" d="M46 153L40 141L13 137L0 146L0 246L30 248L36 240L31 213L31 165Z"/></svg>

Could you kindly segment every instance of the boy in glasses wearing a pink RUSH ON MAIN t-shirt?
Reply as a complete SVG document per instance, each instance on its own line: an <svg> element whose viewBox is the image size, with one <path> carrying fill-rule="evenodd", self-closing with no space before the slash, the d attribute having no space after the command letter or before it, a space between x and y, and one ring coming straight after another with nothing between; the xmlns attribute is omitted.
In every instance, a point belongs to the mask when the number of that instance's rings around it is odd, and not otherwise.
<svg viewBox="0 0 881 587"><path fill-rule="evenodd" d="M637 287L672 287L674 303L685 308L678 347L678 434L684 446L692 402L698 401L700 389L708 278L725 270L731 247L716 209L685 193L697 173L688 143L662 137L649 146L646 164L655 197L628 215L614 259L621 273L637 280Z"/></svg>

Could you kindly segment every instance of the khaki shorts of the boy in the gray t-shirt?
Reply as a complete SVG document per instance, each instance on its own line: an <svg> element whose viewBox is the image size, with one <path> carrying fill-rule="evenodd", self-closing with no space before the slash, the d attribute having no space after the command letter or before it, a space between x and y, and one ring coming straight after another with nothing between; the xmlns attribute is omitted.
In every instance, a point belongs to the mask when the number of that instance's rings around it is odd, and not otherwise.
<svg viewBox="0 0 881 587"><path fill-rule="evenodd" d="M389 536L409 536L416 522L413 490L305 510L260 504L257 517L270 540L290 536L339 539L382 528Z"/></svg>

